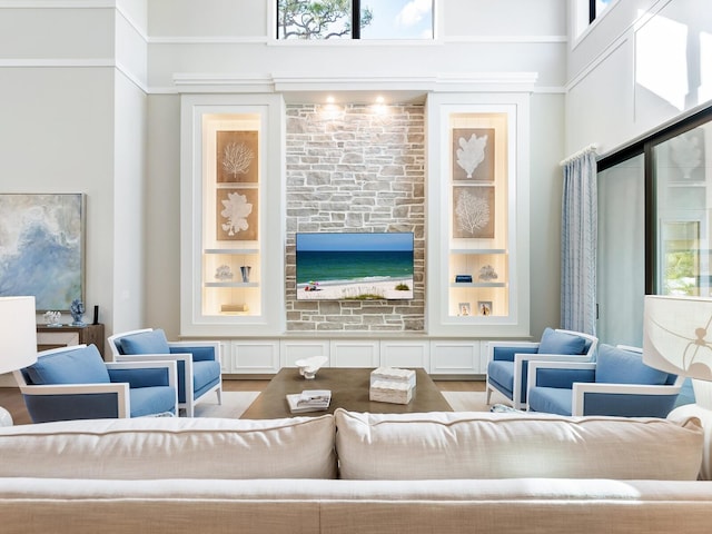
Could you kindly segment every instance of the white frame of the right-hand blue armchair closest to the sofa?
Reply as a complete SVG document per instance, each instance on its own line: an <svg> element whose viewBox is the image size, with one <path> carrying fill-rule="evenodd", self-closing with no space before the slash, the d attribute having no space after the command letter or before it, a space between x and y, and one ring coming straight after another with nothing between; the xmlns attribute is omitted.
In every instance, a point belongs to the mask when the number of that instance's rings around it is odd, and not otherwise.
<svg viewBox="0 0 712 534"><path fill-rule="evenodd" d="M619 345L617 347L625 350L641 352L641 349L636 347L626 347L622 345ZM528 389L536 386L536 372L540 368L594 370L596 368L596 364L581 362L533 362L532 364L530 364L527 370L527 396ZM575 382L573 384L571 393L571 415L584 415L584 403L586 393L609 393L616 395L675 395L680 393L684 379L684 376L678 376L674 384L659 386L645 384L606 384L596 382Z"/></svg>

